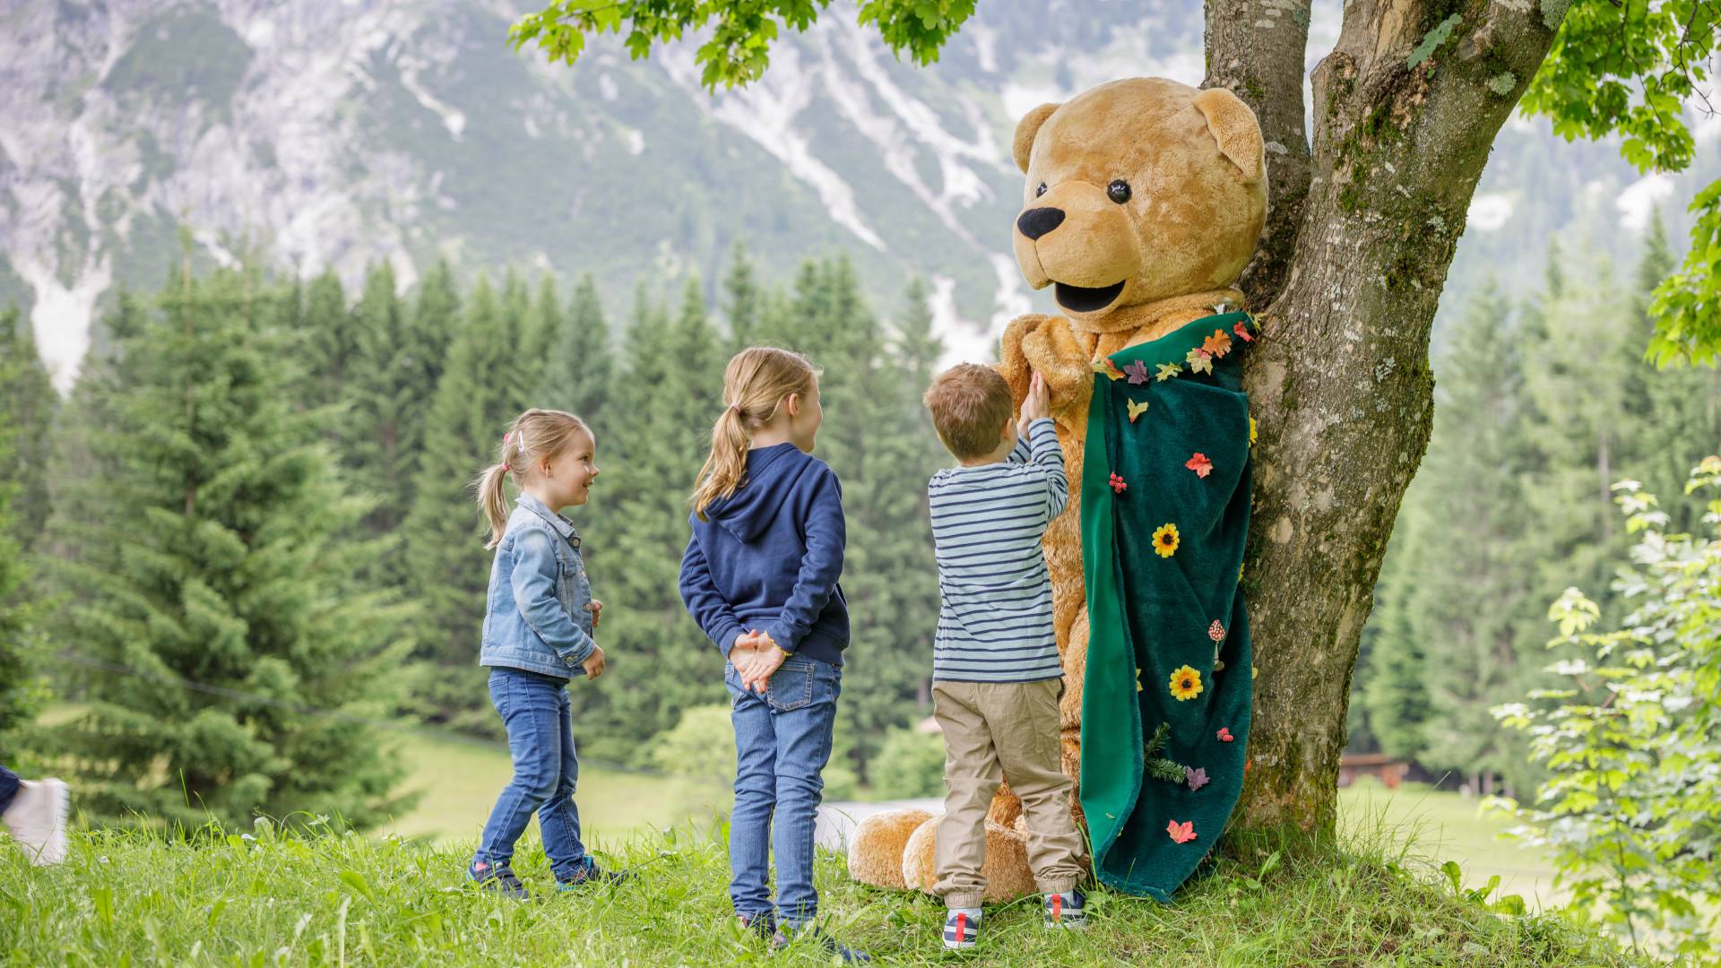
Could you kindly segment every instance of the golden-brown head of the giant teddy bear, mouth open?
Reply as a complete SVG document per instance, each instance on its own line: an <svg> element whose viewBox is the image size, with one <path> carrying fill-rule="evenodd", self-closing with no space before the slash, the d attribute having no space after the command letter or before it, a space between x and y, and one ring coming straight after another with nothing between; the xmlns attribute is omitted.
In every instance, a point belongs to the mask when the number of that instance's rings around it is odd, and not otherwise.
<svg viewBox="0 0 1721 968"><path fill-rule="evenodd" d="M1027 174L1015 262L1081 329L1232 286L1267 220L1261 129L1224 88L1100 84L1027 112L1014 155Z"/></svg>

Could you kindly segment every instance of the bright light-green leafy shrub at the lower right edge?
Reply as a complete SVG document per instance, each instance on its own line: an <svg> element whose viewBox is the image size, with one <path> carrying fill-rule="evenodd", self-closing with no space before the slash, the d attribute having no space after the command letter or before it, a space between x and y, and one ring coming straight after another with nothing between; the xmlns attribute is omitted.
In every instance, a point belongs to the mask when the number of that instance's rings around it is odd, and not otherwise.
<svg viewBox="0 0 1721 968"><path fill-rule="evenodd" d="M1554 854L1568 913L1599 916L1638 951L1716 958L1721 928L1721 498L1707 536L1668 534L1668 513L1635 481L1614 486L1626 529L1642 537L1614 587L1633 603L1621 627L1592 632L1601 610L1578 589L1549 608L1549 672L1563 689L1496 710L1528 730L1551 773L1535 806L1504 801L1518 834ZM1685 487L1721 493L1721 458Z"/></svg>

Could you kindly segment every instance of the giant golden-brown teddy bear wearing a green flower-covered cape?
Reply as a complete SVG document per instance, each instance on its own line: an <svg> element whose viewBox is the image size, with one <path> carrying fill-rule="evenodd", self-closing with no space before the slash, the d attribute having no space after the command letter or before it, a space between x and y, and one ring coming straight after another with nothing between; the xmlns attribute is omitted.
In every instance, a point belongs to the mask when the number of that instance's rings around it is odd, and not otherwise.
<svg viewBox="0 0 1721 968"><path fill-rule="evenodd" d="M1246 768L1251 677L1237 582L1253 420L1239 357L1256 339L1237 277L1267 217L1265 146L1236 95L1112 81L1022 117L1015 258L1064 315L1024 315L1000 372L1033 370L1070 477L1045 537L1064 661L1064 772L1096 877L1169 901L1218 841ZM988 899L1033 890L1021 804L988 816ZM848 870L935 880L936 818L864 820Z"/></svg>

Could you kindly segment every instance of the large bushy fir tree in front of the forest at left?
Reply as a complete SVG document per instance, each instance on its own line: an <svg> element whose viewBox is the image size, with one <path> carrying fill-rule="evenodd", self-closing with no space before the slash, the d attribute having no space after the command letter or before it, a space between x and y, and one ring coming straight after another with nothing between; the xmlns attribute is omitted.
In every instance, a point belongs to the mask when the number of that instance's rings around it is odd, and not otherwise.
<svg viewBox="0 0 1721 968"><path fill-rule="evenodd" d="M267 298L251 274L184 277L119 344L89 436L117 474L69 568L67 641L98 665L65 739L100 818L368 827L399 806L361 725L392 708L399 615L349 587L373 555L351 539L365 501L286 403Z"/></svg>

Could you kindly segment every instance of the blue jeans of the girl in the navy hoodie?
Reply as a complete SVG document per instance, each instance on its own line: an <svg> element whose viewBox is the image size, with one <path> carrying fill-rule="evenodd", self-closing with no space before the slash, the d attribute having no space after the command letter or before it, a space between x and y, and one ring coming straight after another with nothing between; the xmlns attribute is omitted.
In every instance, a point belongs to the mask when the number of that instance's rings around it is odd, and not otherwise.
<svg viewBox="0 0 1721 968"><path fill-rule="evenodd" d="M730 816L730 901L735 913L771 913L769 851L776 851L778 918L795 928L819 913L812 889L812 823L831 758L842 668L788 656L764 696L723 673L735 722L735 811ZM773 825L773 815L776 823Z"/></svg>

